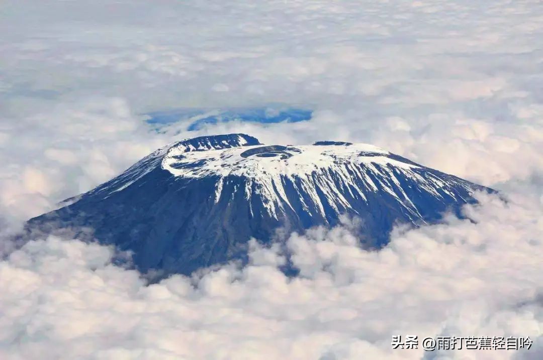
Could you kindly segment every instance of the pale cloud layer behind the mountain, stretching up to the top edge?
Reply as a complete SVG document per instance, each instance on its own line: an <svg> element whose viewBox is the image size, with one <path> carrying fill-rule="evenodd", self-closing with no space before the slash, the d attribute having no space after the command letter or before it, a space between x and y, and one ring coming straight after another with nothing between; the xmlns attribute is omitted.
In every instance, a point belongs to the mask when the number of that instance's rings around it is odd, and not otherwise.
<svg viewBox="0 0 543 360"><path fill-rule="evenodd" d="M17 218L194 135L143 126L172 107L303 105L310 123L198 134L368 142L485 185L541 175L536 0L33 1L0 16L0 203Z"/></svg>

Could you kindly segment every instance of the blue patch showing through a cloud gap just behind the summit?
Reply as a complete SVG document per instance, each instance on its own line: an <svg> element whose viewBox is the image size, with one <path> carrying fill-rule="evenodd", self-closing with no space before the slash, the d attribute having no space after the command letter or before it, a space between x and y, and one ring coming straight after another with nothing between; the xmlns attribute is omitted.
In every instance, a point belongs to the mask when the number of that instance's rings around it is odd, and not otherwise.
<svg viewBox="0 0 543 360"><path fill-rule="evenodd" d="M204 118L196 119L187 126L188 131L200 130L206 125L216 125L218 123L228 123L229 121L243 121L248 123L275 124L275 123L298 123L299 121L308 121L313 115L313 111L301 108L231 108L226 110L211 109L192 109L182 108L170 111L157 111L146 113L150 117L148 124L162 126L173 124L181 120L188 120L199 115L215 112Z"/></svg>

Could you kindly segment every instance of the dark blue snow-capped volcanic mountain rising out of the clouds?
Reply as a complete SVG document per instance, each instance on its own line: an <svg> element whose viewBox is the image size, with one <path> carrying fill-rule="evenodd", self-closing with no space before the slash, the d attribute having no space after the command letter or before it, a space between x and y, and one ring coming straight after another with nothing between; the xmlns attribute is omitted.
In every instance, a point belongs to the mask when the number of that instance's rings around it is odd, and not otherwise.
<svg viewBox="0 0 543 360"><path fill-rule="evenodd" d="M360 218L362 241L379 247L394 224L459 213L476 190L492 191L372 145L228 134L163 147L29 228L91 228L131 250L141 271L189 274L244 260L251 237L270 242L277 229L334 226L343 214Z"/></svg>

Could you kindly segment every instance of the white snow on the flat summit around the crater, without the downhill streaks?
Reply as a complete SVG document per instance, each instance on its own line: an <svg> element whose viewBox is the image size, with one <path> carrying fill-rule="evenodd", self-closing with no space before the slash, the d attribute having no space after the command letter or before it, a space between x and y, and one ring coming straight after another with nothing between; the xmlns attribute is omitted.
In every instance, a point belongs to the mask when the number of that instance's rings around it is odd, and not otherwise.
<svg viewBox="0 0 543 360"><path fill-rule="evenodd" d="M313 145L245 145L228 149L197 149L184 142L173 145L162 160L162 168L175 176L203 177L210 175L308 175L315 170L334 168L345 163L392 164L399 168L418 165L403 162L380 147L346 142L317 142ZM188 151L187 151L188 150Z"/></svg>

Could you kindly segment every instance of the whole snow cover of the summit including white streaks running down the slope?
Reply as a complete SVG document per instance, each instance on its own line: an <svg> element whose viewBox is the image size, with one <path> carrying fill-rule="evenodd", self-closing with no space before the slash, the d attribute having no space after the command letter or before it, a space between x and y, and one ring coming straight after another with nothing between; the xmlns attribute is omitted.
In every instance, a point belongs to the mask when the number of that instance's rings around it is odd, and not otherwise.
<svg viewBox="0 0 543 360"><path fill-rule="evenodd" d="M242 134L238 135L243 137ZM240 144L247 144L241 141ZM379 147L368 144L344 142L317 142L313 145L250 145L190 151L182 144L172 146L162 160L162 168L174 176L184 178L218 177L215 202L222 196L224 179L229 176L244 177L244 193L250 198L256 189L257 194L266 198L266 209L270 215L284 213L285 207L295 211L287 195L287 183L293 184L301 199L302 207L307 210L311 205L304 201L310 196L310 202L317 204L320 214L325 214L325 204L330 205L334 213L351 209L350 198L367 202L367 193L384 191L401 204L411 220L422 216L413 201L402 189L405 179L416 182L421 189L435 197L444 194L456 200L465 201L453 188L462 186L470 194L472 184L458 178L439 178L425 172L424 166L394 155ZM195 150L206 150L199 148ZM424 173L423 173L424 172ZM323 197L325 200L323 200ZM252 212L251 212L252 213Z"/></svg>

